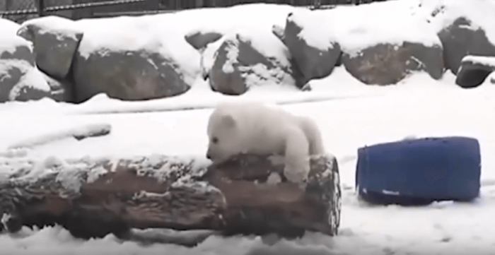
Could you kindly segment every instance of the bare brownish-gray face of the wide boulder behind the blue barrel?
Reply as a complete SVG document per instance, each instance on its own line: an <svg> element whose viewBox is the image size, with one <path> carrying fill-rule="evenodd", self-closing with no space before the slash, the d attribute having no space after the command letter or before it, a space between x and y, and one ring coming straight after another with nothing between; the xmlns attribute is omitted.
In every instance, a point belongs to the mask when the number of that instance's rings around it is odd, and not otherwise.
<svg viewBox="0 0 495 255"><path fill-rule="evenodd" d="M443 75L440 45L426 47L413 42L403 45L383 43L363 49L359 54L342 54L342 64L352 76L370 85L395 84L411 71L426 71L434 79Z"/></svg>

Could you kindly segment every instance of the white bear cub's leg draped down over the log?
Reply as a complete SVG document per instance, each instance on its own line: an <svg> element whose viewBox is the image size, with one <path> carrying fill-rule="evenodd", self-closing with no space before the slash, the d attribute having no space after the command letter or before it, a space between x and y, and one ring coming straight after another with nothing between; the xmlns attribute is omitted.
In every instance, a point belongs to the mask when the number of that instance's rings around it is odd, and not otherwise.
<svg viewBox="0 0 495 255"><path fill-rule="evenodd" d="M291 128L286 136L284 175L289 182L301 183L310 172L309 141L301 129Z"/></svg>

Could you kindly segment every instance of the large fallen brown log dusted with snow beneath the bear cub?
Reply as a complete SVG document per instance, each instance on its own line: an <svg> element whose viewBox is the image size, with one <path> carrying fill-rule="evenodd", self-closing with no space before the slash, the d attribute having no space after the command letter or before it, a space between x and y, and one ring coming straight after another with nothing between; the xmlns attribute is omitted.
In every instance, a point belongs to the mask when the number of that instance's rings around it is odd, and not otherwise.
<svg viewBox="0 0 495 255"><path fill-rule="evenodd" d="M254 155L221 165L165 155L6 162L11 174L0 182L2 227L17 232L23 225L58 224L82 238L129 238L132 229L149 228L337 235L337 160L322 155L310 162L303 187L286 181L284 165ZM281 182L267 182L277 174Z"/></svg>

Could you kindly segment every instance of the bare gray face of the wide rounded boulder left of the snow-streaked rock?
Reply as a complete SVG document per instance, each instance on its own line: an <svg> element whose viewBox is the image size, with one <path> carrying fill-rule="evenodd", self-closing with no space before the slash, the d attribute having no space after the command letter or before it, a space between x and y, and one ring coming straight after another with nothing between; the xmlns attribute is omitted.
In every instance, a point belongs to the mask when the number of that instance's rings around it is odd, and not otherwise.
<svg viewBox="0 0 495 255"><path fill-rule="evenodd" d="M74 61L75 102L98 93L120 100L149 100L180 95L190 89L175 63L145 49L78 54Z"/></svg>

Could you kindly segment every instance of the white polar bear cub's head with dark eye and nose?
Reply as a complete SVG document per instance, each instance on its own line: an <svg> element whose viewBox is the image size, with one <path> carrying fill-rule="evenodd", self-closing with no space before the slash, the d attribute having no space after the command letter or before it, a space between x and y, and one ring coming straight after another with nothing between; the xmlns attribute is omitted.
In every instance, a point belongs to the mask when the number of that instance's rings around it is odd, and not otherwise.
<svg viewBox="0 0 495 255"><path fill-rule="evenodd" d="M231 113L214 110L208 121L208 150L206 158L221 163L243 152L243 136L235 116Z"/></svg>

